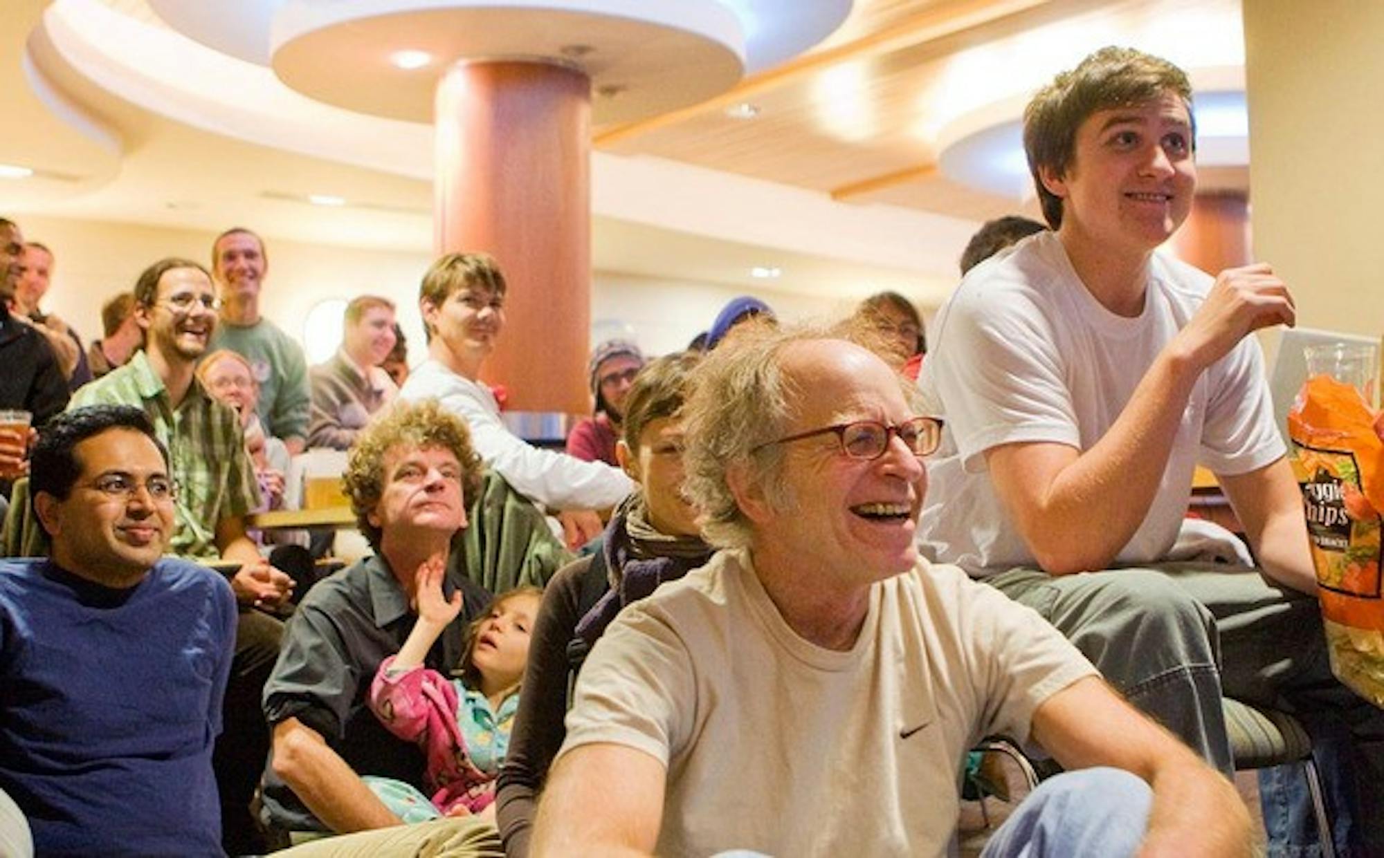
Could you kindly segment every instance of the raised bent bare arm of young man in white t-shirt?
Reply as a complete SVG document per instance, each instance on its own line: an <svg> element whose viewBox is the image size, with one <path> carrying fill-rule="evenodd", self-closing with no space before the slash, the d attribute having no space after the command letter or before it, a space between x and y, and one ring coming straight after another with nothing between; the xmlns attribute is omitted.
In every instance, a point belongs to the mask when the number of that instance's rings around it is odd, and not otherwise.
<svg viewBox="0 0 1384 858"><path fill-rule="evenodd" d="M1221 273L1089 450L1017 443L985 451L995 493L1049 574L1104 569L1139 529L1201 372L1246 335L1293 324L1293 298L1265 264Z"/></svg>

